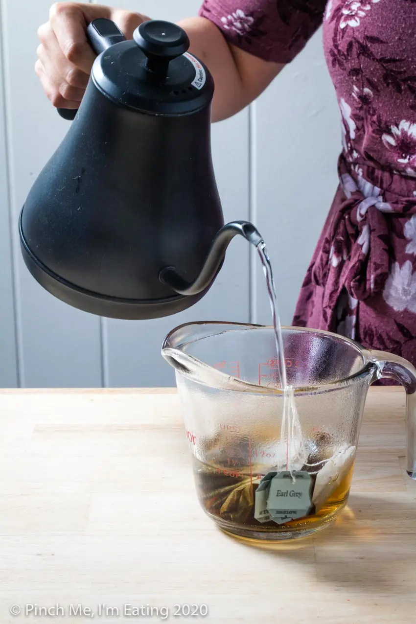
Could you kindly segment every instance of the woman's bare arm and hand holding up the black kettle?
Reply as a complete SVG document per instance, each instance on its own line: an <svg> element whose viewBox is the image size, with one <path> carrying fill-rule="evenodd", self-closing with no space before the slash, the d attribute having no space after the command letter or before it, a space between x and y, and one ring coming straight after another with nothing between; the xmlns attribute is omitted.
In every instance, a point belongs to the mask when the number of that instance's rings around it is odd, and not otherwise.
<svg viewBox="0 0 416 624"><path fill-rule="evenodd" d="M49 21L39 27L36 73L56 107L79 107L95 58L85 31L98 17L112 19L128 39L137 26L149 19L140 13L97 4L54 4ZM213 121L234 115L256 99L284 66L229 44L220 29L205 17L190 17L179 25L190 38L190 52L213 75Z"/></svg>

